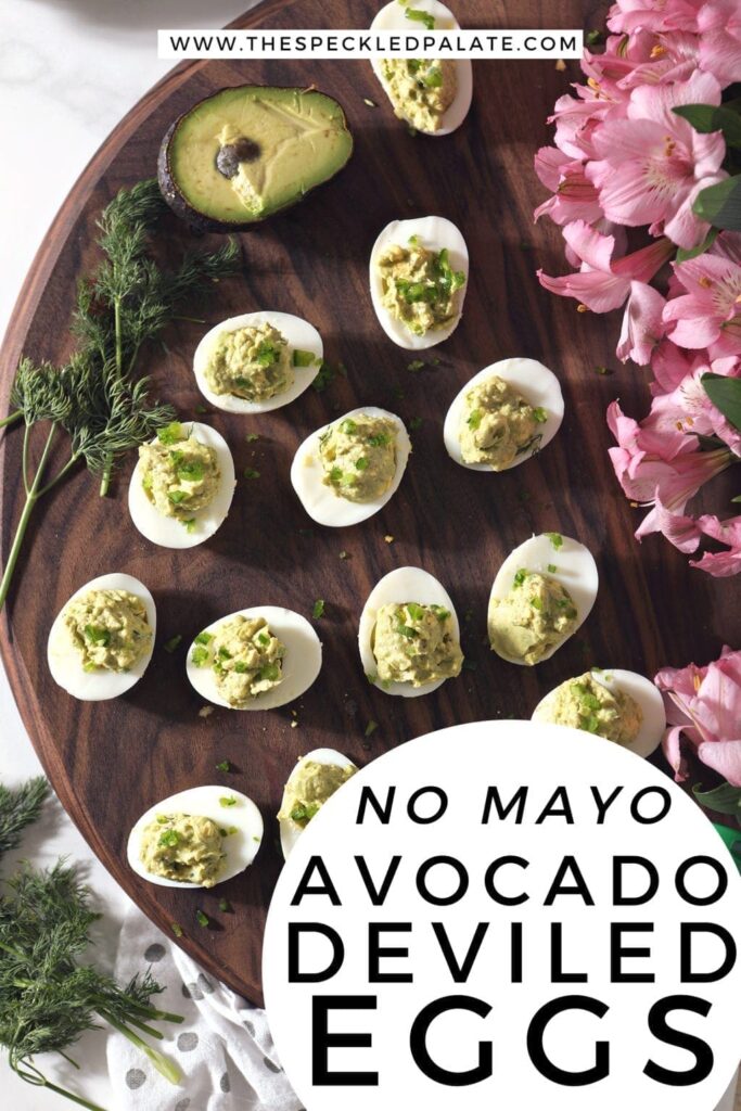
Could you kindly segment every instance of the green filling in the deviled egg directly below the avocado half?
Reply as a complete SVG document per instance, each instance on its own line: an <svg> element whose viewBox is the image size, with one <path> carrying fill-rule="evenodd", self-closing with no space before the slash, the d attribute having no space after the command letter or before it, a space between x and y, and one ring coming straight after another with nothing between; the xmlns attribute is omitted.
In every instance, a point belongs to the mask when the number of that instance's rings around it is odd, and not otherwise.
<svg viewBox="0 0 741 1111"><path fill-rule="evenodd" d="M203 373L214 393L267 401L293 384L288 340L269 323L222 332Z"/></svg>

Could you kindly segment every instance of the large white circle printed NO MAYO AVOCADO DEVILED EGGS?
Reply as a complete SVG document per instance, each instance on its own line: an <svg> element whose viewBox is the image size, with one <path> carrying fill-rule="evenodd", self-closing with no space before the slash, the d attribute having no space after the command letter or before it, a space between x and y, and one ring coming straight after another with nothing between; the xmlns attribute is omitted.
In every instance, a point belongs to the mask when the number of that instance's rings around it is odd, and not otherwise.
<svg viewBox="0 0 741 1111"><path fill-rule="evenodd" d="M299 838L268 918L308 1111L712 1111L738 1063L741 879L660 770L589 734L410 741Z"/></svg>

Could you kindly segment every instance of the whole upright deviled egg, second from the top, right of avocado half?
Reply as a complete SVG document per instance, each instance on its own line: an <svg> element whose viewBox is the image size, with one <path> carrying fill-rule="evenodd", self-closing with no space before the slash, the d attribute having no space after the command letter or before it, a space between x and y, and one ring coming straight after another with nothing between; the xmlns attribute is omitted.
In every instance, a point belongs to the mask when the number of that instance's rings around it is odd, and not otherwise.
<svg viewBox="0 0 741 1111"><path fill-rule="evenodd" d="M442 343L461 319L468 276L465 240L450 220L392 220L370 257L371 301L381 328L407 350Z"/></svg>

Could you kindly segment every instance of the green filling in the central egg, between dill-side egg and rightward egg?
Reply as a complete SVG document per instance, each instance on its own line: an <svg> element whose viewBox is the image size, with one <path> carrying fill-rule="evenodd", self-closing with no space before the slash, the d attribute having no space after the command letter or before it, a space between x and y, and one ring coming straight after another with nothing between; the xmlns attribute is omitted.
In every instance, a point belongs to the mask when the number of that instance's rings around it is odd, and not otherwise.
<svg viewBox="0 0 741 1111"><path fill-rule="evenodd" d="M322 434L319 454L324 486L348 501L373 501L397 473L397 427L387 417L346 417Z"/></svg>

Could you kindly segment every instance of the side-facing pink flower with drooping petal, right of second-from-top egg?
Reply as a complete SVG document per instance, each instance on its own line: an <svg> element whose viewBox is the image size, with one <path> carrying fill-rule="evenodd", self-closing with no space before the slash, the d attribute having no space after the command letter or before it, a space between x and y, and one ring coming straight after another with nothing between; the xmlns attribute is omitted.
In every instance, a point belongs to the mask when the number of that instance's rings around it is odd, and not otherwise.
<svg viewBox="0 0 741 1111"><path fill-rule="evenodd" d="M612 260L614 236L603 236L583 220L574 220L563 229L568 249L581 261L577 273L551 278L538 271L540 284L560 297L574 297L592 312L610 312L625 301L622 333L618 354L647 363L651 350L661 338L664 299L648 282L673 253L667 239Z"/></svg>

